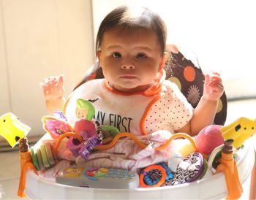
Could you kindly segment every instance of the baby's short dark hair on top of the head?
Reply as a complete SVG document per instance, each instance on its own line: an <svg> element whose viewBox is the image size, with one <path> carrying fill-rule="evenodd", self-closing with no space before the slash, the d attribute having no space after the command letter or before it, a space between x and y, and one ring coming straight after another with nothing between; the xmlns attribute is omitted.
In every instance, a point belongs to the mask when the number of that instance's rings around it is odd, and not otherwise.
<svg viewBox="0 0 256 200"><path fill-rule="evenodd" d="M143 28L154 31L159 39L161 53L164 54L167 31L162 18L146 7L136 7L132 9L127 6L113 9L113 11L102 20L96 39L96 52L100 49L105 32L119 27L124 29Z"/></svg>

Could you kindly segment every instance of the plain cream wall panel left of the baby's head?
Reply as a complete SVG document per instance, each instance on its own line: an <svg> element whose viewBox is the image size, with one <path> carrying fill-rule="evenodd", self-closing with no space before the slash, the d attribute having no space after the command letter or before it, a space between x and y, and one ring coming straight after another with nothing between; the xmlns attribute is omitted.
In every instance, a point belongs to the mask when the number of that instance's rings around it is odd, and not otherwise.
<svg viewBox="0 0 256 200"><path fill-rule="evenodd" d="M44 132L39 82L64 74L68 95L93 62L91 1L0 0L0 115L13 112L29 135Z"/></svg>

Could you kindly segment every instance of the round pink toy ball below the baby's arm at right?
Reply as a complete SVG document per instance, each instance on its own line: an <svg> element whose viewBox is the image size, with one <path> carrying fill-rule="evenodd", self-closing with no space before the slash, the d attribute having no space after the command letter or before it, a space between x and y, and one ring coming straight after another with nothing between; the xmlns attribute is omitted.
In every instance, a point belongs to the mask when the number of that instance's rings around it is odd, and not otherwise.
<svg viewBox="0 0 256 200"><path fill-rule="evenodd" d="M208 155L215 149L215 147L224 143L222 133L219 131L220 128L222 128L220 125L210 125L199 132L195 137L195 143L200 152Z"/></svg>

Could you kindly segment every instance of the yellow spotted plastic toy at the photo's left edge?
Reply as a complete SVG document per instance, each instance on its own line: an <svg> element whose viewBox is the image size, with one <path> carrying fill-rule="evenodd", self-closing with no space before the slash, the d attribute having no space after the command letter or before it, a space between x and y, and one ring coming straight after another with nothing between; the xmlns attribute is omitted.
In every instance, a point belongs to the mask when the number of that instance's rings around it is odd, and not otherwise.
<svg viewBox="0 0 256 200"><path fill-rule="evenodd" d="M20 139L24 138L30 131L30 127L22 123L20 119L8 112L0 117L0 135L14 147Z"/></svg>

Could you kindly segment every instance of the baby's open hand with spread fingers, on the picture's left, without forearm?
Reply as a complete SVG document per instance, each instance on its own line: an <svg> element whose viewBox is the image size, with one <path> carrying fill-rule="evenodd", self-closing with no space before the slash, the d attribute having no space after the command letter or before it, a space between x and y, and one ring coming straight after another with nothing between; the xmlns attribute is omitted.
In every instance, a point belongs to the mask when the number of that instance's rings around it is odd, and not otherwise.
<svg viewBox="0 0 256 200"><path fill-rule="evenodd" d="M59 77L48 77L42 82L40 86L45 95L45 100L59 99L64 96L63 75Z"/></svg>

